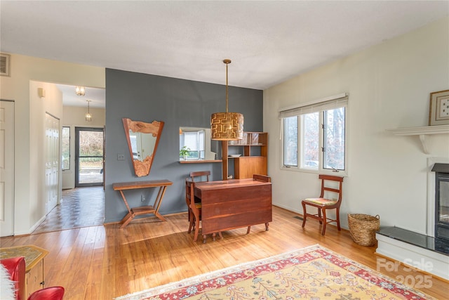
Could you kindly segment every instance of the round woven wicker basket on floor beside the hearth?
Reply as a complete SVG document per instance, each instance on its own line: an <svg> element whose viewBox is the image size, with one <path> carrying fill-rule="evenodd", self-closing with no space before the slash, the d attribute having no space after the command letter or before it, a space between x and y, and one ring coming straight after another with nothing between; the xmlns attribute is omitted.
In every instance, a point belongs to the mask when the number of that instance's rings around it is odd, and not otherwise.
<svg viewBox="0 0 449 300"><path fill-rule="evenodd" d="M376 231L380 228L380 217L367 214L348 214L349 232L352 240L362 246L376 243Z"/></svg>

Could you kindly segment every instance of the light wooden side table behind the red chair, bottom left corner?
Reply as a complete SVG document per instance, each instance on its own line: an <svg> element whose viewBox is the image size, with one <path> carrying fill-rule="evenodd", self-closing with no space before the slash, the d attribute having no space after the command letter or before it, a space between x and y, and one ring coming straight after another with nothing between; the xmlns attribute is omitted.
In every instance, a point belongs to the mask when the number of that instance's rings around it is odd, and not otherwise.
<svg viewBox="0 0 449 300"><path fill-rule="evenodd" d="M0 248L0 259L9 259L11 257L25 257L25 295L43 289L43 258L48 254L46 249L27 244L25 246Z"/></svg>

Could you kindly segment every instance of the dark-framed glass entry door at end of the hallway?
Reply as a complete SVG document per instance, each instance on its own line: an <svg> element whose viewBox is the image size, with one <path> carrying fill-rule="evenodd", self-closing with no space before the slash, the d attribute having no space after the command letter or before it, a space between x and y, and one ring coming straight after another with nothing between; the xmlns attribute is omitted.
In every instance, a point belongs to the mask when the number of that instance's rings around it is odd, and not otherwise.
<svg viewBox="0 0 449 300"><path fill-rule="evenodd" d="M103 185L104 130L75 127L75 187Z"/></svg>

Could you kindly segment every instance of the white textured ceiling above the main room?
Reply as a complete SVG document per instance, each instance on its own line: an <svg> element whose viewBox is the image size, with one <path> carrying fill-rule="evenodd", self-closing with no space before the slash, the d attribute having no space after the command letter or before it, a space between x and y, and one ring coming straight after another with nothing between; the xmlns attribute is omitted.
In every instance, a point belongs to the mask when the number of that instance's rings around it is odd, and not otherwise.
<svg viewBox="0 0 449 300"><path fill-rule="evenodd" d="M448 13L449 1L0 0L0 49L215 84L230 58L230 86L267 89Z"/></svg>

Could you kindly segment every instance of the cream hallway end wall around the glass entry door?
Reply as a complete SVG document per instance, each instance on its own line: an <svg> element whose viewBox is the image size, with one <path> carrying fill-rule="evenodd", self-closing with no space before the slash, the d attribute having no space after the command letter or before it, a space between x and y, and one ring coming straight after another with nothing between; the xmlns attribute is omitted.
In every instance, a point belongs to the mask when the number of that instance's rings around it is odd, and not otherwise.
<svg viewBox="0 0 449 300"><path fill-rule="evenodd" d="M70 127L70 169L62 171L62 189L75 187L75 127L104 128L106 116L104 108L91 107L92 121L86 122L87 107L64 106L62 126Z"/></svg>

